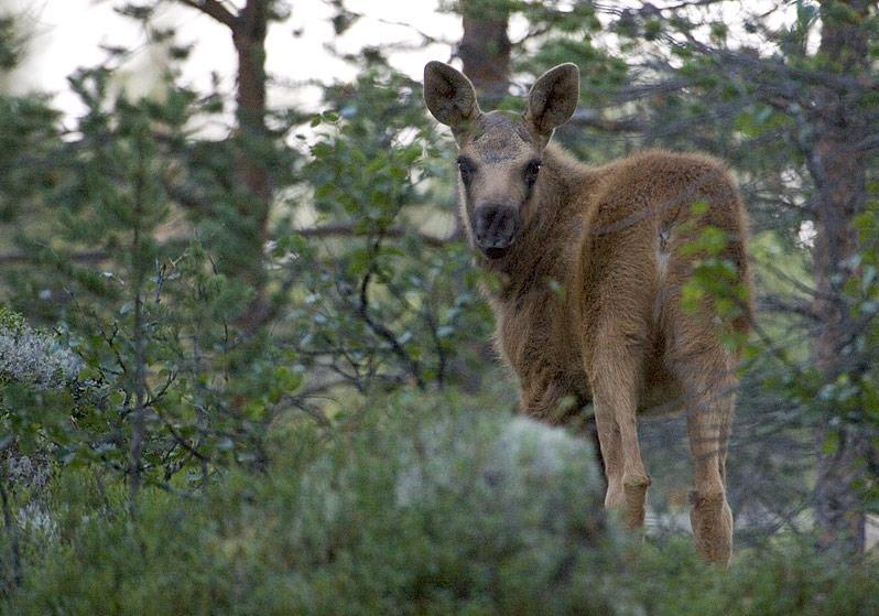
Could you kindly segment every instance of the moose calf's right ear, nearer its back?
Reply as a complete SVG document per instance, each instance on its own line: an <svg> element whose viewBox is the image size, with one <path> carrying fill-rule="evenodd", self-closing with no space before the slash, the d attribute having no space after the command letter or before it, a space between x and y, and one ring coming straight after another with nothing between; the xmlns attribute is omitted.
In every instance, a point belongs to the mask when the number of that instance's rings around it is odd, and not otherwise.
<svg viewBox="0 0 879 616"><path fill-rule="evenodd" d="M579 68L569 62L550 68L540 76L528 94L525 121L534 131L550 138L577 108L579 97Z"/></svg>

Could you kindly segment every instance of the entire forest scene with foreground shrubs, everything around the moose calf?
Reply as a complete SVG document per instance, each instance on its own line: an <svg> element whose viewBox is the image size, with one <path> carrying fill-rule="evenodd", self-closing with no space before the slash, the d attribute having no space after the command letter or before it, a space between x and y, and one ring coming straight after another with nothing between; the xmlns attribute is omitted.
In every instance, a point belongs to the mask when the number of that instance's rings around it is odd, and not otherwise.
<svg viewBox="0 0 879 616"><path fill-rule="evenodd" d="M879 610L875 2L98 4L137 42L54 94L26 71L51 32L0 12L7 610ZM758 313L729 572L685 540L683 418L641 426L643 543L576 430L513 419L432 58L513 110L574 62L578 158L736 176ZM731 314L725 241L699 238L684 296Z"/></svg>

